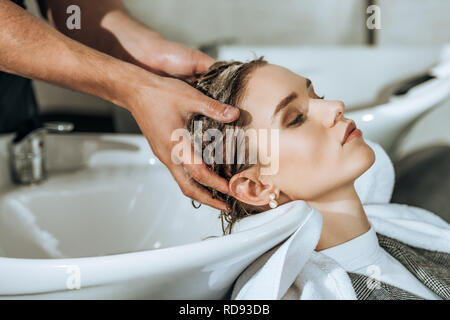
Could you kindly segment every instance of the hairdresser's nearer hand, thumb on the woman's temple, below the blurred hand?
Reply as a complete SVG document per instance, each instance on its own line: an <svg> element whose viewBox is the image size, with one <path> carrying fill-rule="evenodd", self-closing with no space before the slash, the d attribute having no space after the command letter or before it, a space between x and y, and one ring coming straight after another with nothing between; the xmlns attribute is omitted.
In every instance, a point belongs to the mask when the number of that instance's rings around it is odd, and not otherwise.
<svg viewBox="0 0 450 320"><path fill-rule="evenodd" d="M226 210L225 203L213 199L198 183L228 193L227 181L211 172L203 162L193 164L194 161L183 160L182 164L176 164L172 161L172 150L180 141L171 141L171 136L176 129L186 128L187 119L192 113L204 114L221 122L231 122L239 116L239 110L208 98L183 81L142 72L145 74L140 76L141 79L134 76L130 85L135 88L129 90L125 105L129 106L127 109L139 124L153 153L169 168L184 195ZM188 150L193 155L190 142Z"/></svg>

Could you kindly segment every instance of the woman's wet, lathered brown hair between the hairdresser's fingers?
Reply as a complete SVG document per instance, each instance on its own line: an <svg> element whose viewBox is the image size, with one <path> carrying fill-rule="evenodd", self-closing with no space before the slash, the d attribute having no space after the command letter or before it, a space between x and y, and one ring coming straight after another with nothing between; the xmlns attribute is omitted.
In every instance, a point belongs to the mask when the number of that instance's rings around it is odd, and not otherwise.
<svg viewBox="0 0 450 320"><path fill-rule="evenodd" d="M239 108L239 105L245 96L251 73L258 67L266 64L267 61L265 61L263 57L249 62L219 61L214 63L204 74L200 75L193 85L208 97ZM249 159L247 152L248 146L245 142L245 138L243 145L238 142L232 143L230 149L223 147L227 140L227 134L230 134L230 132L236 134L237 131L240 129L242 131L242 129L251 122L250 114L241 108L239 109L241 111L239 118L231 123L221 123L201 114L192 115L187 123L187 129L191 134L192 143L194 144L196 151L201 152L204 162L211 171L215 172L220 177L225 178L227 181L235 174L238 174L253 165L258 165ZM197 127L195 125L196 122ZM201 124L201 130L199 130L199 123ZM217 135L214 135L215 139L213 141L204 141L205 139L203 139L203 136L205 134L208 135L207 131L211 132L210 129L215 129L216 132L218 130L221 133L221 135L219 135L221 138L217 139ZM215 154L216 149L214 147L217 144L220 145L220 148L218 149L223 150L223 154ZM237 149L240 147L245 149L245 159L242 159L244 161L237 161L235 158L235 156L239 155ZM204 152L206 148L210 149L210 151ZM230 154L227 154L227 151L231 151L229 152ZM216 161L217 156L223 161ZM230 159L232 161L229 161ZM224 234L231 233L232 226L236 221L248 215L263 211L261 207L241 202L236 198L223 194L211 187L205 186L205 188L212 194L213 198L225 202L230 210L229 212L224 210L221 210L220 212Z"/></svg>

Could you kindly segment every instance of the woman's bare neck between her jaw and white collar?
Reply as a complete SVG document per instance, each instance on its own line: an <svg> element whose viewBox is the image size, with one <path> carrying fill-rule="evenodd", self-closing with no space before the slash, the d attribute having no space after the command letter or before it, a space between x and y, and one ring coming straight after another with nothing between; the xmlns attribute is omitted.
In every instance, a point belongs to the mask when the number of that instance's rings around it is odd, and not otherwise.
<svg viewBox="0 0 450 320"><path fill-rule="evenodd" d="M370 229L369 220L353 183L308 203L317 209L323 218L317 251L347 242Z"/></svg>

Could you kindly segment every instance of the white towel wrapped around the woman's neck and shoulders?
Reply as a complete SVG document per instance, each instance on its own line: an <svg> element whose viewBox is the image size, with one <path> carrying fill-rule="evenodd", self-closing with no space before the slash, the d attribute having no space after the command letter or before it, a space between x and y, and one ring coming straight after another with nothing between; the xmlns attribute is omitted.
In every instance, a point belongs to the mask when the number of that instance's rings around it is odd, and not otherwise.
<svg viewBox="0 0 450 320"><path fill-rule="evenodd" d="M369 221L378 233L406 244L450 253L450 226L433 213L407 205L389 204L394 169L384 150L366 142L376 161L355 182ZM283 243L255 260L235 283L232 299L356 299L347 272L334 260L314 251L322 229L321 214L297 200L273 210L298 206L304 223ZM239 232L268 219L271 210L236 223ZM258 220L257 220L258 219Z"/></svg>

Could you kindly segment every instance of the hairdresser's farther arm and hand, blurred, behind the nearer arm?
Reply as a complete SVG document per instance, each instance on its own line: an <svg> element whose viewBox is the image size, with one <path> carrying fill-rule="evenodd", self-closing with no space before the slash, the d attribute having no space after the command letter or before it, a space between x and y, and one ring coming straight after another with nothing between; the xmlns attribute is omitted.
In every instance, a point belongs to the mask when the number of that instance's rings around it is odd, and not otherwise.
<svg viewBox="0 0 450 320"><path fill-rule="evenodd" d="M42 1L41 1L42 2ZM62 33L101 52L152 73L193 80L214 62L200 51L164 39L133 19L119 0L46 0L49 21ZM66 26L66 9L81 9L80 29Z"/></svg>

